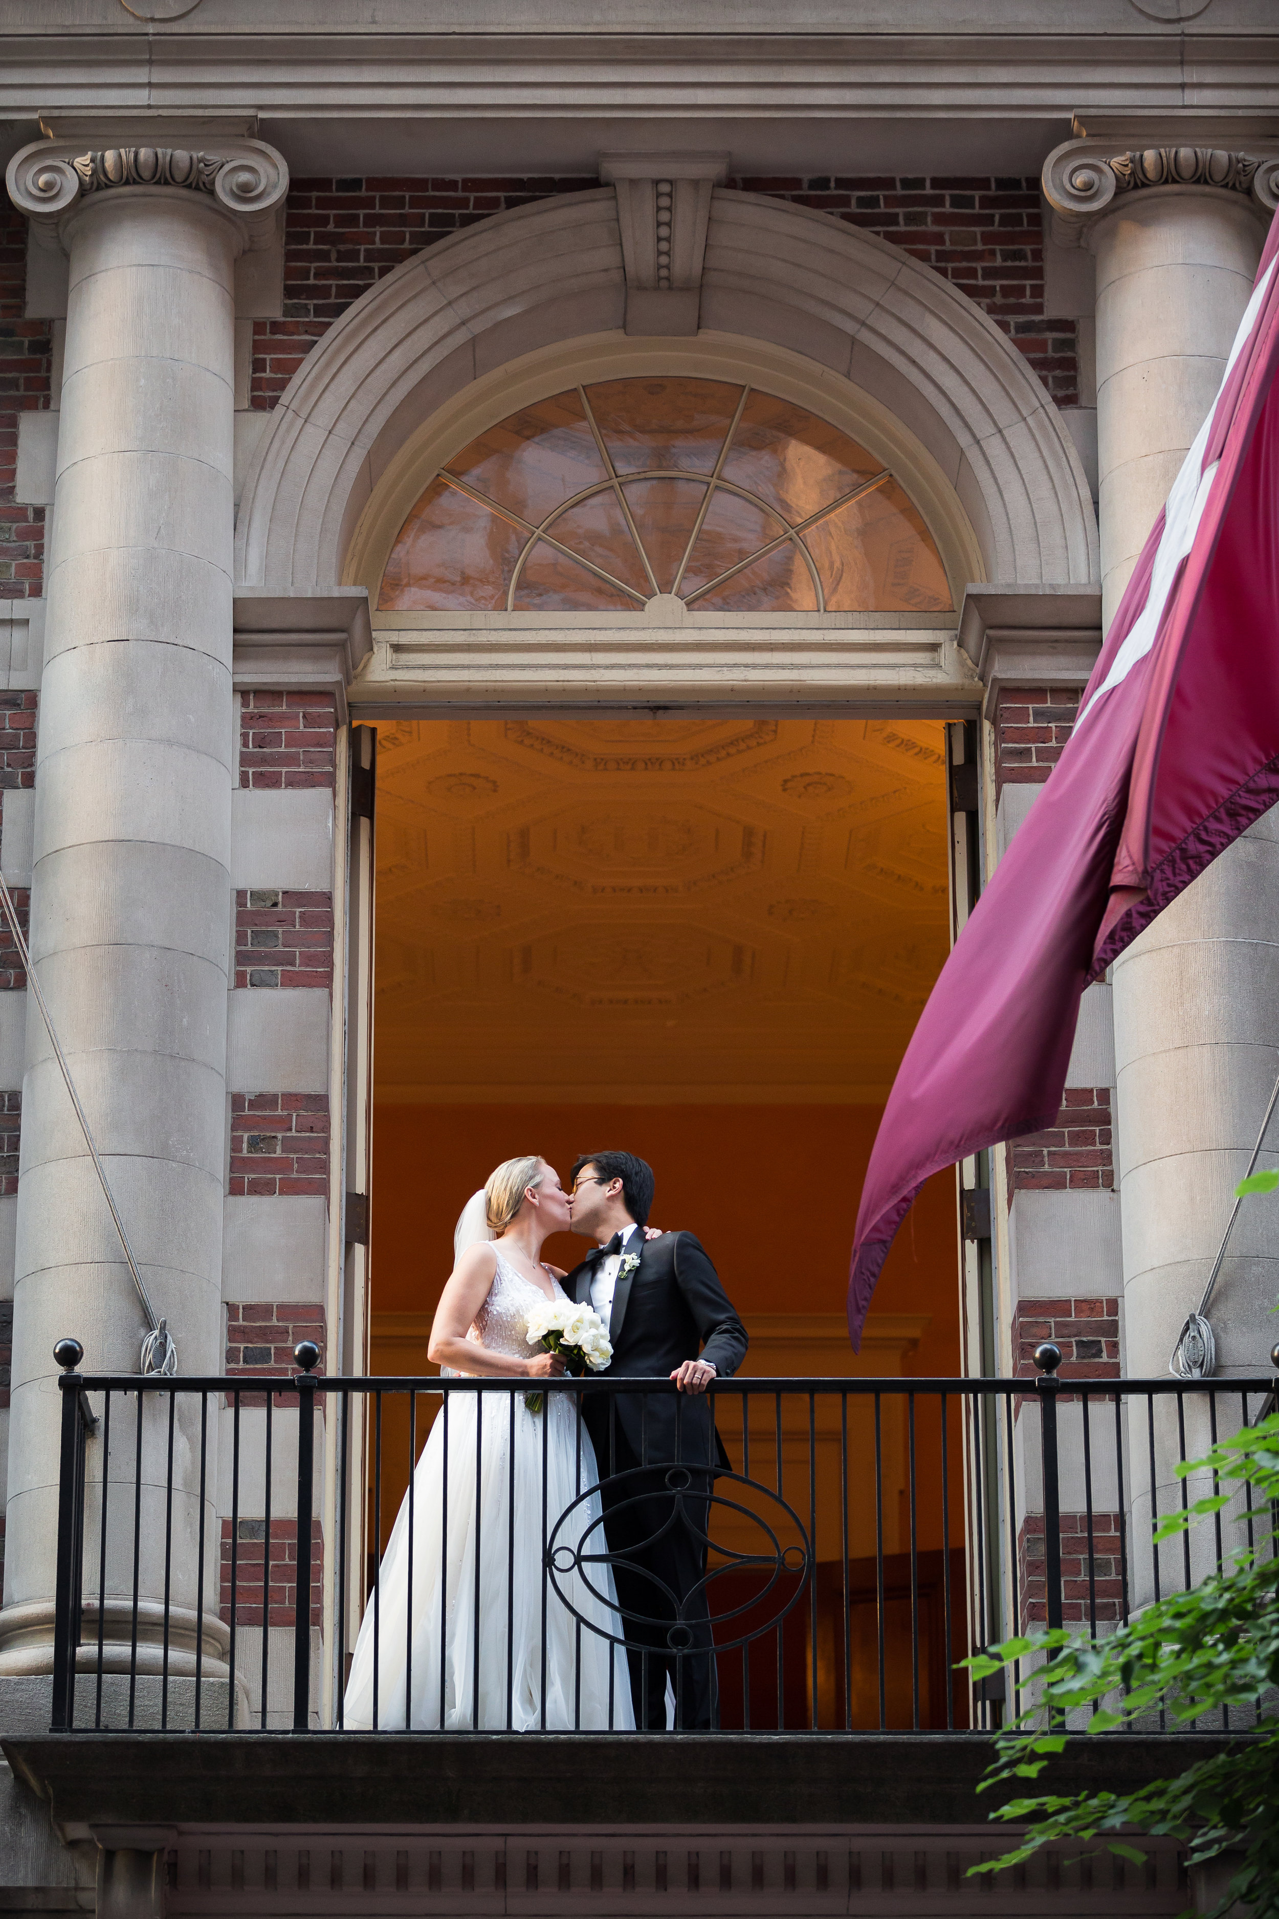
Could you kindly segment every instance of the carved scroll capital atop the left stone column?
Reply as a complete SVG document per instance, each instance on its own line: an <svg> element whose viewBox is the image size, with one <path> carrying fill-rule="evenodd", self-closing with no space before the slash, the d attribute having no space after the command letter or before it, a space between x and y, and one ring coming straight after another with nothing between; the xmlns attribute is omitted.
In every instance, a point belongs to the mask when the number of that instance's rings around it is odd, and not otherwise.
<svg viewBox="0 0 1279 1919"><path fill-rule="evenodd" d="M270 246L290 171L265 140L217 138L211 150L182 146L86 148L82 140L33 140L6 171L13 205L46 244L61 246L77 207L107 194L192 194L228 215L240 228L242 251Z"/></svg>

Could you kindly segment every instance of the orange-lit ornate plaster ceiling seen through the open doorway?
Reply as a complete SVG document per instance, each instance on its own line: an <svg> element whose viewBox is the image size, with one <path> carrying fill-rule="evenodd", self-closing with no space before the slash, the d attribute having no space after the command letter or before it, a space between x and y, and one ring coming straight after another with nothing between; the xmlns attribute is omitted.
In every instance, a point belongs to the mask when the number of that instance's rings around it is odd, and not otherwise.
<svg viewBox="0 0 1279 1919"><path fill-rule="evenodd" d="M378 731L382 1100L882 1100L947 948L936 722Z"/></svg>

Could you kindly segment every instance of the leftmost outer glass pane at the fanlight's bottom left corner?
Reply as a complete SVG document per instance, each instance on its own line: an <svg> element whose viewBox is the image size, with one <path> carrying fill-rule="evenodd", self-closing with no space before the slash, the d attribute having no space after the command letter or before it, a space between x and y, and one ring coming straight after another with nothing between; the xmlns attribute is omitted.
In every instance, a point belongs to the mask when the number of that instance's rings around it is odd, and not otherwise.
<svg viewBox="0 0 1279 1919"><path fill-rule="evenodd" d="M500 608L523 541L479 501L431 480L395 541L378 610Z"/></svg>

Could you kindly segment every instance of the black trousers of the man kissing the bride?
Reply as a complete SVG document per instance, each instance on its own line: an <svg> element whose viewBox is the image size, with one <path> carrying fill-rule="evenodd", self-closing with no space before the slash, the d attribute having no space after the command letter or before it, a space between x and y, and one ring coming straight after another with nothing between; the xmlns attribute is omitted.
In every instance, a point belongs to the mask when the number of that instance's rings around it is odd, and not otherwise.
<svg viewBox="0 0 1279 1919"><path fill-rule="evenodd" d="M719 1683L706 1600L706 1466L640 1464L625 1433L612 1433L612 1474L600 1481L604 1535L629 1641L631 1698L640 1731L665 1727L665 1681L675 1725L719 1725ZM600 1457L606 1468L608 1453Z"/></svg>

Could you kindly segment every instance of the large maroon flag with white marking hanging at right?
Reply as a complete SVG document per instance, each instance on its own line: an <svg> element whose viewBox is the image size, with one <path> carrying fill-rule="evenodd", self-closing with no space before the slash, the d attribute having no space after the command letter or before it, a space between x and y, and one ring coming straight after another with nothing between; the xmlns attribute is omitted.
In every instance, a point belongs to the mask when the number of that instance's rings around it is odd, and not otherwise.
<svg viewBox="0 0 1279 1919"><path fill-rule="evenodd" d="M853 1345L928 1174L1055 1123L1085 984L1279 800L1277 259L1279 215L1074 733L905 1050L861 1190Z"/></svg>

